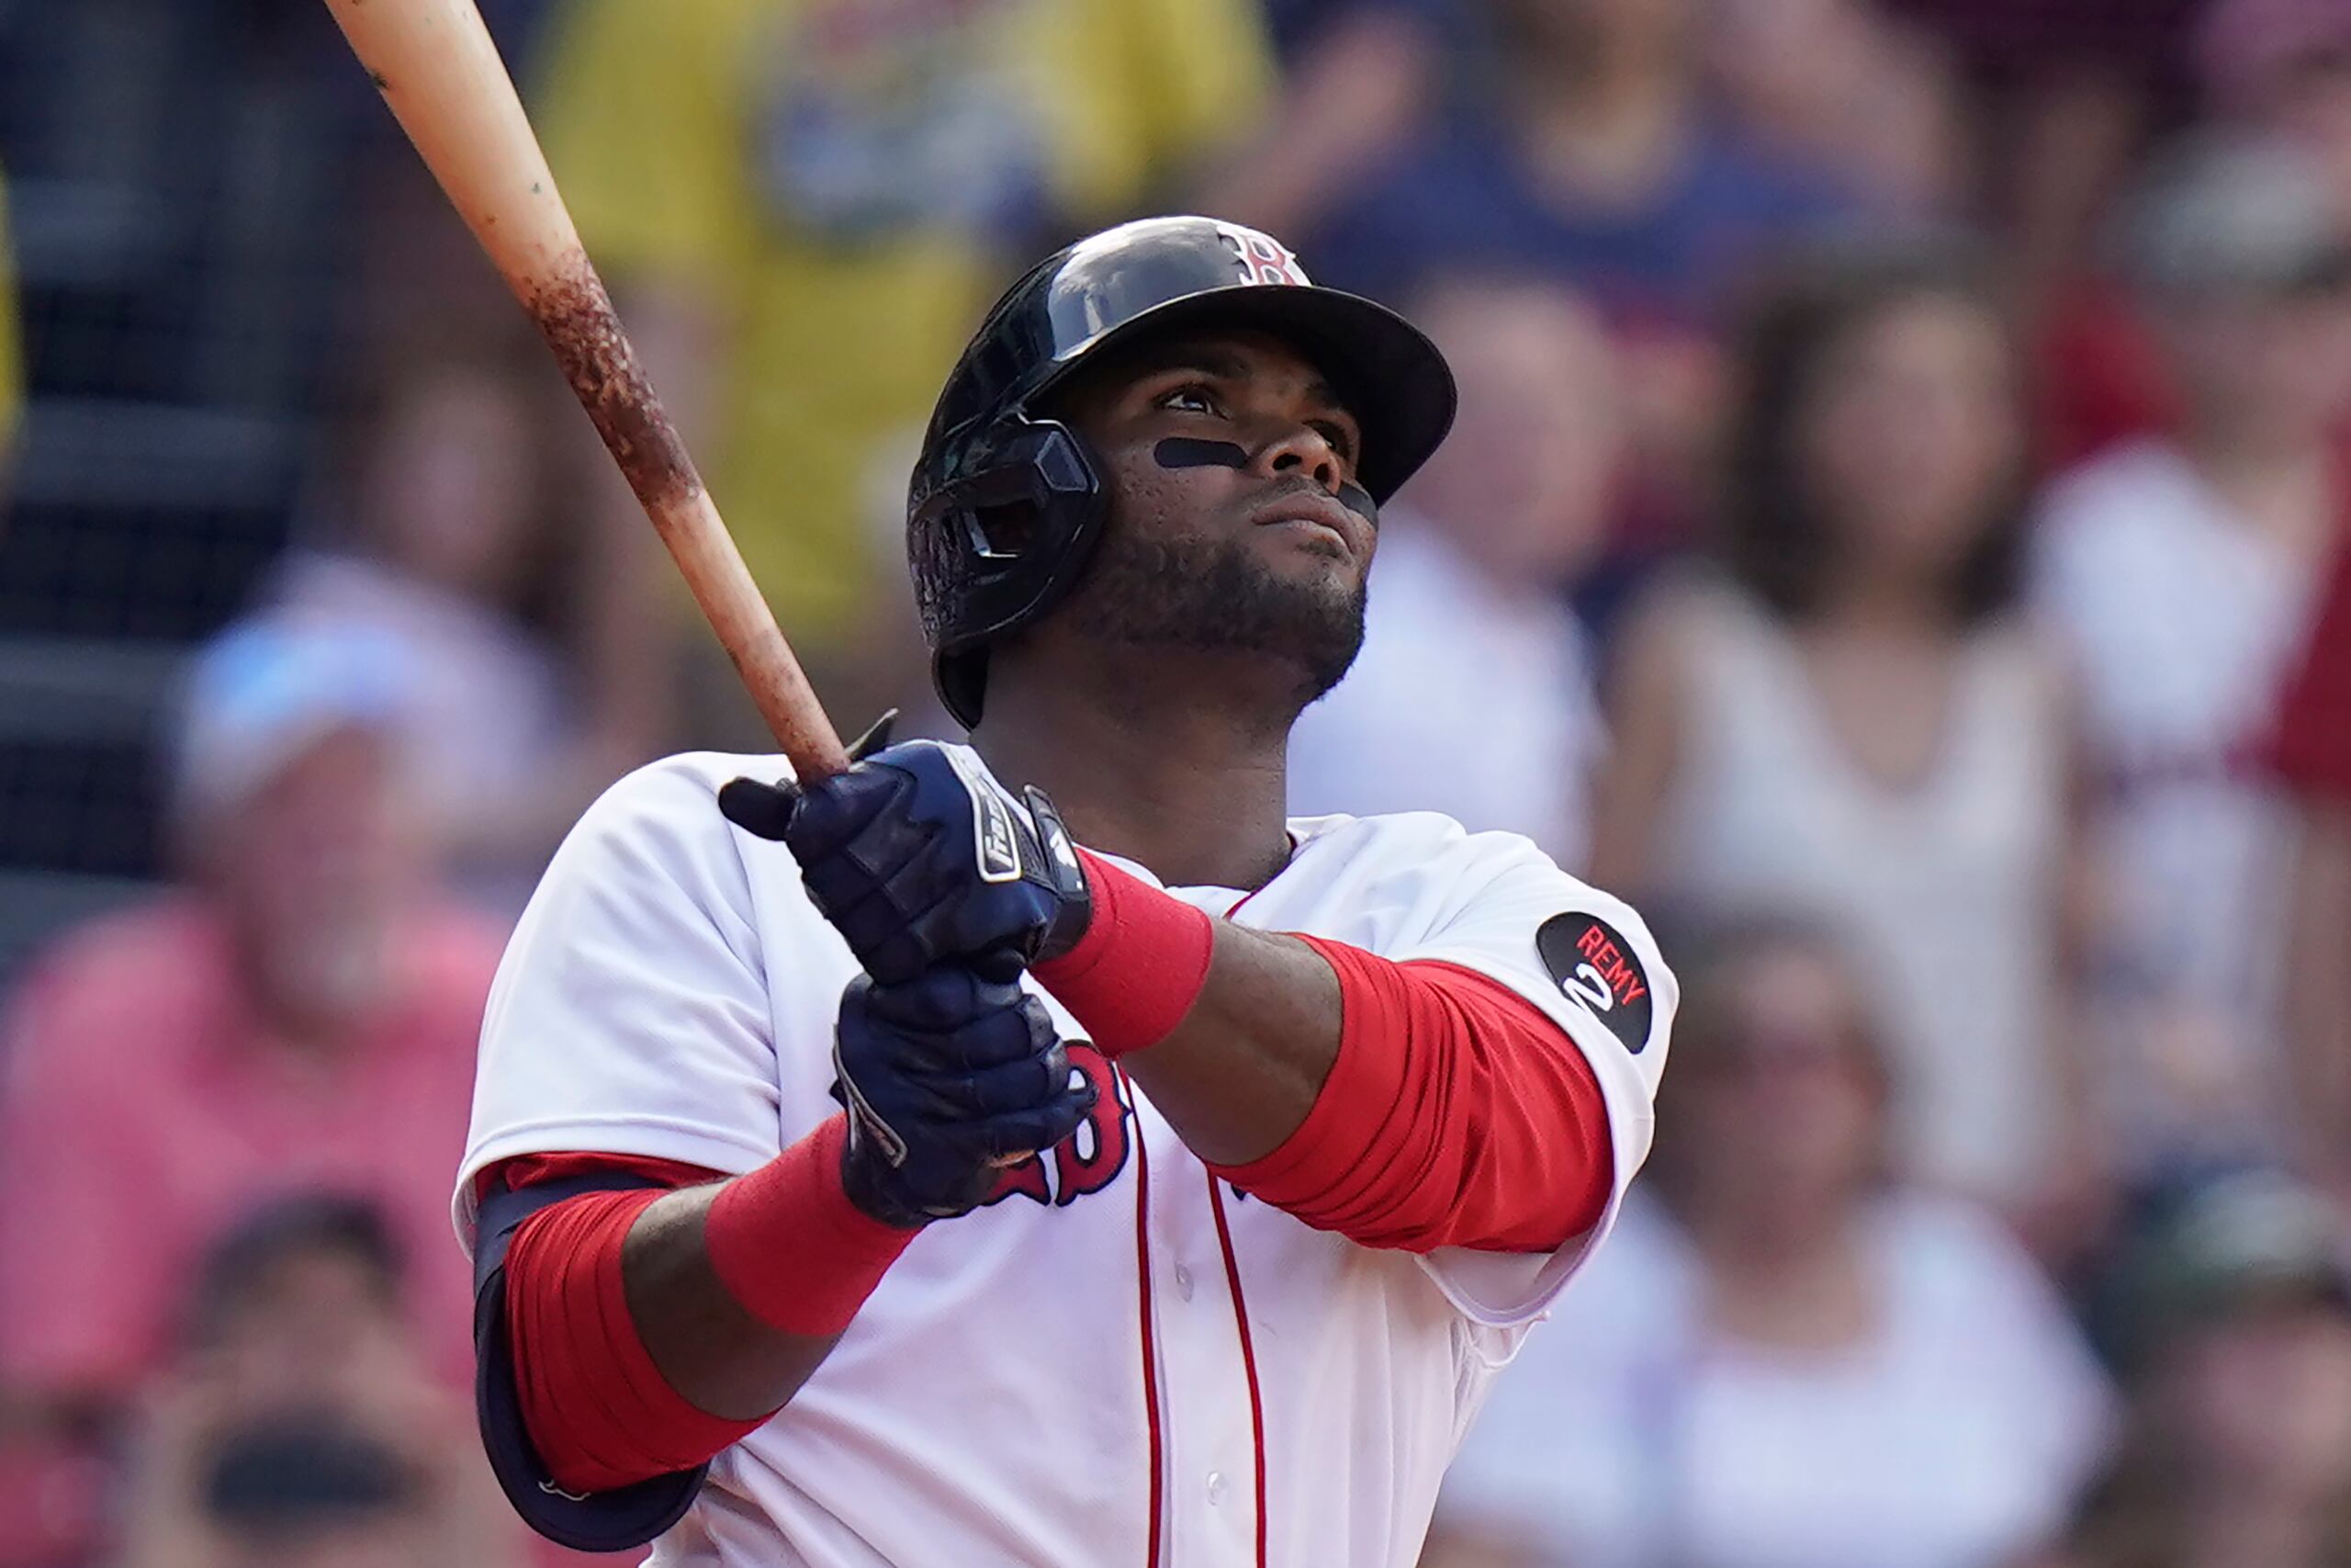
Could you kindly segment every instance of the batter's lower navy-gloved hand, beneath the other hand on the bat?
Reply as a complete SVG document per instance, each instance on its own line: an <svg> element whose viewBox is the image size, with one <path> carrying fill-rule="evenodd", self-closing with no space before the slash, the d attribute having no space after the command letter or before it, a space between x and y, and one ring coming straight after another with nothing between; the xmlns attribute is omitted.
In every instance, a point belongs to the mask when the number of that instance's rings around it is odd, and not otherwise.
<svg viewBox="0 0 2351 1568"><path fill-rule="evenodd" d="M1098 1098L1037 997L962 964L903 985L853 978L832 1067L849 1201L903 1227L978 1208L1009 1159L1074 1133Z"/></svg>

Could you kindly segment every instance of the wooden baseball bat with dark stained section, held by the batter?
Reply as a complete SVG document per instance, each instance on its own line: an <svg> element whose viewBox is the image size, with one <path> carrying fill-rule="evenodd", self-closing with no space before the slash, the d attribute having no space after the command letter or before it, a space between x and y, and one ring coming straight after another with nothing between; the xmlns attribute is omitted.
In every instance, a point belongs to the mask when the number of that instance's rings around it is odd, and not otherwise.
<svg viewBox="0 0 2351 1568"><path fill-rule="evenodd" d="M327 9L505 287L538 322L795 773L846 769L832 722L621 331L482 12L473 0L327 0Z"/></svg>

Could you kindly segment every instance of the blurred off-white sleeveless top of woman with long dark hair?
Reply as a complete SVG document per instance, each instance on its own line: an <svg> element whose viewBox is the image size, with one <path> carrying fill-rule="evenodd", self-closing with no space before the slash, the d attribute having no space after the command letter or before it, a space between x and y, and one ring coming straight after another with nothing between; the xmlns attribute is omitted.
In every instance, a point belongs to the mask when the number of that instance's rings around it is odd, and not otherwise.
<svg viewBox="0 0 2351 1568"><path fill-rule="evenodd" d="M1998 1201L2029 1194L2057 1152L2048 1027L2067 764L2052 663L2017 625L1980 630L1933 773L1895 790L1853 762L1777 621L1735 588L1693 592L1660 896L1827 922L1883 1011L1904 1171Z"/></svg>

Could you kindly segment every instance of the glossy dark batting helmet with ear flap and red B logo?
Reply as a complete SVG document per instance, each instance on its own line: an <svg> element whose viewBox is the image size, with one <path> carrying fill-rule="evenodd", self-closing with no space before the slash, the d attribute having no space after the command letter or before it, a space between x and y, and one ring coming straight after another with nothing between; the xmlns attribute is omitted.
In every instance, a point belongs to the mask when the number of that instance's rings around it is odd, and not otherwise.
<svg viewBox="0 0 2351 1568"><path fill-rule="evenodd" d="M1357 480L1387 501L1453 423L1453 374L1418 327L1307 282L1274 240L1215 219L1140 219L1046 256L1006 289L947 376L907 491L907 564L938 696L980 722L987 644L1044 616L1110 510L1100 465L1037 402L1145 331L1267 331L1364 428Z"/></svg>

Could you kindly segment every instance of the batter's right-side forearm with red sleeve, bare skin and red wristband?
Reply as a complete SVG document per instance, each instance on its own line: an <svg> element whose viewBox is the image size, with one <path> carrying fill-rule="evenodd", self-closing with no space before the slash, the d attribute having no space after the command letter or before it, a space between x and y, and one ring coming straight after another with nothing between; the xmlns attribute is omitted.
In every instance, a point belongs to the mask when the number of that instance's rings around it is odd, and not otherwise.
<svg viewBox="0 0 2351 1568"><path fill-rule="evenodd" d="M1549 1251L1599 1220L1599 1079L1531 1001L1086 872L1096 924L1037 978L1220 1175L1366 1246Z"/></svg>

